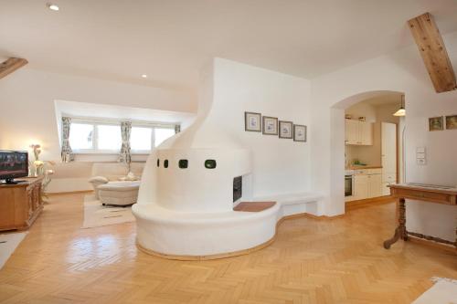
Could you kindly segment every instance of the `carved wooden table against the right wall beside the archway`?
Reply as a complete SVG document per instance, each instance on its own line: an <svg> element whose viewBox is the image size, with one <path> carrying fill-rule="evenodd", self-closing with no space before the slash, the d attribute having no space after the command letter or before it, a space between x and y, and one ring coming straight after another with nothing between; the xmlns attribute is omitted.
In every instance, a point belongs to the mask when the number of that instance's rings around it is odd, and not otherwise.
<svg viewBox="0 0 457 304"><path fill-rule="evenodd" d="M399 238L401 238L404 241L408 240L408 235L425 238L427 240L432 240L439 243L450 244L457 248L457 238L455 242L451 242L440 237L425 236L422 234L407 231L405 215L406 199L419 200L433 204L450 204L456 206L457 188L437 185L426 185L420 183L391 184L389 185L389 187L390 195L398 199L397 211L399 216L399 226L397 227L397 229L395 229L394 236L384 242L384 247L386 249L390 248L390 246L397 242ZM457 235L457 228L455 232Z"/></svg>

